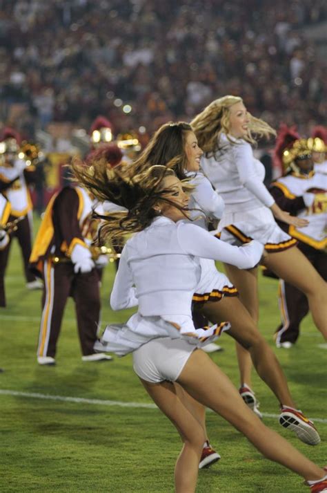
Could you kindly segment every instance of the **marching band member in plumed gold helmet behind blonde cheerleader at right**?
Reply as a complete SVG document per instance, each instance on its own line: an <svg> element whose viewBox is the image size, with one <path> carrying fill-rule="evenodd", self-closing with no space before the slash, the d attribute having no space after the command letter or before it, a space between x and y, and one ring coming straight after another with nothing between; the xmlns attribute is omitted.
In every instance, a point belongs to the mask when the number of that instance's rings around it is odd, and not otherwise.
<svg viewBox="0 0 327 493"><path fill-rule="evenodd" d="M281 127L275 156L284 169L284 176L271 184L270 194L282 210L309 221L300 228L279 225L299 241L299 250L327 281L327 176L313 169L311 145L311 140L301 139L295 129ZM283 279L279 280L279 309L282 323L275 334L276 345L290 348L297 342L299 325L309 306L304 293Z"/></svg>

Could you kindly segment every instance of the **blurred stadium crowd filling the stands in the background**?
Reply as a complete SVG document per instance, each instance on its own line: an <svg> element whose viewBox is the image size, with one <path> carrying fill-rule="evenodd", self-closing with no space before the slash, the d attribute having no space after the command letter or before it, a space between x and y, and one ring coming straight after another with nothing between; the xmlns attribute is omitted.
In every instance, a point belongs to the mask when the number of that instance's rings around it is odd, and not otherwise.
<svg viewBox="0 0 327 493"><path fill-rule="evenodd" d="M327 74L305 33L326 19L324 0L0 0L0 119L152 133L230 93L308 133Z"/></svg>

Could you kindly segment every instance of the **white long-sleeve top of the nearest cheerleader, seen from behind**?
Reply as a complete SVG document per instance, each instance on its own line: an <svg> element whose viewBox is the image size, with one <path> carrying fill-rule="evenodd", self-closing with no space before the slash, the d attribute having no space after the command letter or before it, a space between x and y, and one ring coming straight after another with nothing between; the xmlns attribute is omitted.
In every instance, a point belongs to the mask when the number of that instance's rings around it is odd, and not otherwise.
<svg viewBox="0 0 327 493"><path fill-rule="evenodd" d="M231 263L241 269L254 267L263 245L252 241L237 248L210 235L203 228L166 217L155 218L123 248L110 304L121 310L139 304L139 313L191 316L192 295L199 283L199 257ZM135 286L136 291L131 290Z"/></svg>

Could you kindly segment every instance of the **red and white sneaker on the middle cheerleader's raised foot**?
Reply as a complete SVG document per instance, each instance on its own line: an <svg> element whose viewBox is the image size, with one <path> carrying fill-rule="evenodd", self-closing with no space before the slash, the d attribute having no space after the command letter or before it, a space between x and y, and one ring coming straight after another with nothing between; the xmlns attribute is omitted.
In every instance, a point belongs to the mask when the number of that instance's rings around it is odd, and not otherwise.
<svg viewBox="0 0 327 493"><path fill-rule="evenodd" d="M284 428L290 429L290 431L295 431L297 437L308 445L318 445L320 443L320 436L313 422L308 420L298 409L282 407L279 424Z"/></svg>

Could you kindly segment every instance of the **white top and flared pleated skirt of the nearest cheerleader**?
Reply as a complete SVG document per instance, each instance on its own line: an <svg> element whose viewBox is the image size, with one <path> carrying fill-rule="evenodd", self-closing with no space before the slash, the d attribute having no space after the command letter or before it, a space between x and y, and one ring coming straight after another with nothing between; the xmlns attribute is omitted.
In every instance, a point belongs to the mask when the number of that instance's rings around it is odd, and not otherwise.
<svg viewBox="0 0 327 493"><path fill-rule="evenodd" d="M108 326L95 348L125 355L152 339L170 337L182 339L190 355L212 342L230 325L223 322L206 329L193 325L191 302L201 277L199 257L250 268L261 258L263 248L257 241L237 248L189 222L155 218L124 246L110 298L114 310L138 304L139 311L126 324Z"/></svg>

